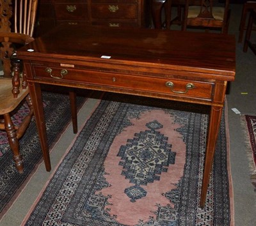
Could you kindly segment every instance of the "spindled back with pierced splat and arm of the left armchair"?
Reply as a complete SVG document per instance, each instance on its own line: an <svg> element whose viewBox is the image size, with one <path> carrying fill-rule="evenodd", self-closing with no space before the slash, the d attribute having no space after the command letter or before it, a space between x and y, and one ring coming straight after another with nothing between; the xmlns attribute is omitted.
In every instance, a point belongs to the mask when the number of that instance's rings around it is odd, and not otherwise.
<svg viewBox="0 0 256 226"><path fill-rule="evenodd" d="M26 44L33 40L37 0L2 1L0 13L0 58L3 61L4 77L11 77L10 56L15 44ZM12 8L14 9L12 11Z"/></svg>

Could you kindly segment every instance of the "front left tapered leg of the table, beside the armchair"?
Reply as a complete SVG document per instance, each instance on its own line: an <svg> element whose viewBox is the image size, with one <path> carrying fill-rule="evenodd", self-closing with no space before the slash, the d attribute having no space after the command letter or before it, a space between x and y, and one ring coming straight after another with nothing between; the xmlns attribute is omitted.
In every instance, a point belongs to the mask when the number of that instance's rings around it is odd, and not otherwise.
<svg viewBox="0 0 256 226"><path fill-rule="evenodd" d="M41 142L42 153L44 156L45 169L51 171L51 160L49 155L49 147L47 144L47 135L45 127L44 107L42 102L41 86L38 83L28 82L29 93L33 102L36 126L38 130L39 139Z"/></svg>

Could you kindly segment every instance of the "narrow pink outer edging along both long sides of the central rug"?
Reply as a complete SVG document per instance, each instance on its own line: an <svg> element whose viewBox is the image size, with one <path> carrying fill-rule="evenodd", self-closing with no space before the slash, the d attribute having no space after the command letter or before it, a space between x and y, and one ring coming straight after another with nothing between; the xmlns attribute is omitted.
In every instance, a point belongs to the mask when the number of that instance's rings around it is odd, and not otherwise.
<svg viewBox="0 0 256 226"><path fill-rule="evenodd" d="M102 94L102 96L104 96L104 94ZM36 204L41 199L42 195L44 194L45 189L49 185L49 183L51 181L51 178L54 176L54 174L55 174L56 170L58 169L58 167L60 166L61 162L63 161L65 156L67 156L67 154L70 151L71 147L76 142L77 137L79 136L79 133L81 132L81 130L83 130L84 125L86 124L88 119L90 119L90 117L92 116L93 112L95 111L95 109L99 105L100 101L101 101L101 99L99 99L99 102L97 102L97 104L95 104L95 106L93 107L93 110L90 113L90 115L88 115L88 117L86 117L86 120L84 121L83 125L81 126L81 128L77 132L76 137L74 137L74 139L72 140L71 144L67 147L65 153L63 154L63 156L61 157L60 161L58 162L58 164L56 165L56 167L52 171L52 174L49 176L49 179L47 180L47 182L45 183L44 187L40 191L40 193L39 193L38 197L36 198L35 202L33 202L33 205L30 207L27 215L25 216L25 218L22 221L22 223L20 224L20 226L24 226L26 224L26 222L28 221L29 216L33 212L33 209L35 209ZM226 140L226 147L227 147L227 170L229 172L228 173L228 183L229 183L229 190L228 191L229 191L229 201L230 201L230 226L234 226L235 225L235 223L234 223L234 192L233 192L232 172L231 172L231 164L230 164L230 135L229 135L229 129L228 129L228 110L227 109L228 109L228 107L227 107L227 100L225 99L224 117L225 117L225 131L226 131L226 139L227 139Z"/></svg>

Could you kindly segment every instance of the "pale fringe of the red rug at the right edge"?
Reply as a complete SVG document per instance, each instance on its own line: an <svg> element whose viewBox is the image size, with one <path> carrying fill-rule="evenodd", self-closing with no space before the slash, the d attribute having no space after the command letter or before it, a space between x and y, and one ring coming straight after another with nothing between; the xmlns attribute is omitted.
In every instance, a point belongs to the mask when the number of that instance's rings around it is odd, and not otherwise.
<svg viewBox="0 0 256 226"><path fill-rule="evenodd" d="M241 116L241 128L242 128L242 133L244 135L244 143L246 146L246 155L247 155L248 161L249 161L250 178L252 179L252 184L255 186L255 191L256 191L256 166L255 166L255 163L254 163L253 157L252 157L252 146L250 143L250 136L248 133L246 118L244 115Z"/></svg>

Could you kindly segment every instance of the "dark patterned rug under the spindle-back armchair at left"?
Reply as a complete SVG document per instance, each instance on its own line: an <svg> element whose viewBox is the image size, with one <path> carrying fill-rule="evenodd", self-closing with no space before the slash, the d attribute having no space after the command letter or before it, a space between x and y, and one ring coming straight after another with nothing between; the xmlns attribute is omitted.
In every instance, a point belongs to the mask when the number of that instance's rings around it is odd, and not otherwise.
<svg viewBox="0 0 256 226"><path fill-rule="evenodd" d="M48 144L52 146L61 132L67 128L71 120L69 97L67 94L43 93ZM85 98L77 96L77 107L81 107ZM13 115L13 123L19 124L28 113L28 105L20 106ZM0 219L12 205L26 181L42 159L42 152L35 119L31 121L28 130L20 139L20 153L24 160L24 173L19 174L12 160L12 151L8 144L6 133L0 131Z"/></svg>

